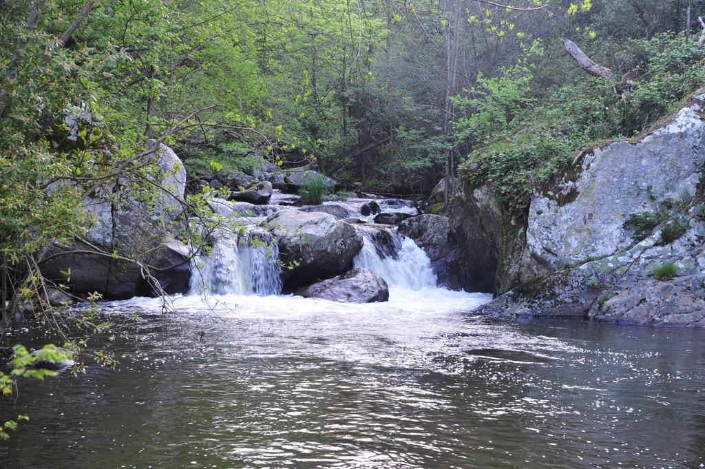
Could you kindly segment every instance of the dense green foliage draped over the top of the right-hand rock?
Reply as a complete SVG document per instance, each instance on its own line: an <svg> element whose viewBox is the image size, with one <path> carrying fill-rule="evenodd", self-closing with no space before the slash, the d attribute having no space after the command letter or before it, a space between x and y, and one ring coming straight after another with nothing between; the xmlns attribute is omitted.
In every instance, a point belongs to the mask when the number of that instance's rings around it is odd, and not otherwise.
<svg viewBox="0 0 705 469"><path fill-rule="evenodd" d="M454 123L458 135L466 130L482 138L475 140L460 176L474 185L490 183L509 214L526 213L534 190L553 189L550 183L570 173L578 151L648 130L705 83L705 49L683 35L624 42L617 55L639 77L633 90L615 93L608 80L577 75L572 83L544 92L535 82L546 76L530 67L516 68L524 72L522 78L531 79L520 87L506 83L509 69L499 78L482 80L482 93L456 101L461 111L474 113ZM532 92L544 92L546 98L529 113ZM646 215L630 222L643 237L658 224Z"/></svg>

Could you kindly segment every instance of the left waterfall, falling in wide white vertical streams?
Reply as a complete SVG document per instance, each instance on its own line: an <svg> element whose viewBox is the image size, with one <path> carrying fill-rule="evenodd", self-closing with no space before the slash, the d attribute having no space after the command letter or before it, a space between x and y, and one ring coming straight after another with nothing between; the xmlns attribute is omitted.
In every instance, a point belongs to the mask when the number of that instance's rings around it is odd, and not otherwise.
<svg viewBox="0 0 705 469"><path fill-rule="evenodd" d="M277 295L281 293L279 250L271 235L218 233L209 253L195 256L191 294Z"/></svg>

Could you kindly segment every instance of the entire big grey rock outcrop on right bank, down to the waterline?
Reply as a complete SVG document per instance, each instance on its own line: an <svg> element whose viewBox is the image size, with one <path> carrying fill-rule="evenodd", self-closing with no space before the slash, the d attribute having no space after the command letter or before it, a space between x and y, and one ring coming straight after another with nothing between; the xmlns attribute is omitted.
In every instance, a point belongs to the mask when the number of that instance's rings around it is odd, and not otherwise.
<svg viewBox="0 0 705 469"><path fill-rule="evenodd" d="M568 265L527 281L479 312L701 326L705 123L698 111L698 105L683 109L636 144L617 142L583 155L574 182L566 179L558 192L534 197L527 248L551 269ZM657 210L666 221L635 239L625 227L630 214ZM663 267L673 269L675 278L658 281Z"/></svg>

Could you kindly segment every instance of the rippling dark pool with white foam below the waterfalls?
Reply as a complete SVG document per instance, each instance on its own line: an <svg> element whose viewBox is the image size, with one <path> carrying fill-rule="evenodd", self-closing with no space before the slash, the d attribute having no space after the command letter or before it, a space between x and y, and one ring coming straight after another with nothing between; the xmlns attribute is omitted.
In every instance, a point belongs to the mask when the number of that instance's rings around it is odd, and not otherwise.
<svg viewBox="0 0 705 469"><path fill-rule="evenodd" d="M437 289L217 300L107 303L139 332L118 372L1 404L32 421L0 467L705 467L704 331L498 322Z"/></svg>

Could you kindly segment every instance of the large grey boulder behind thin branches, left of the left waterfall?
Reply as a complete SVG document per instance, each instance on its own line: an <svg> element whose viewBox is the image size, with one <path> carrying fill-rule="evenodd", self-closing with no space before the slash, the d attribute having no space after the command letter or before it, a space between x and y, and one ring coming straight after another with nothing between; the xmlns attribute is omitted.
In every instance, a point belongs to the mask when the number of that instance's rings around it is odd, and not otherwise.
<svg viewBox="0 0 705 469"><path fill-rule="evenodd" d="M66 284L75 293L102 294L104 298L125 299L149 290L142 267L168 279L183 279L183 245L170 240L173 221L181 213L186 172L183 163L166 145L150 157L156 162L155 183L165 190L143 200L123 181L115 181L87 197L84 205L94 218L85 243L63 248L51 247L40 262L42 274ZM174 272L170 272L175 269ZM180 293L183 281L167 281L167 293Z"/></svg>

